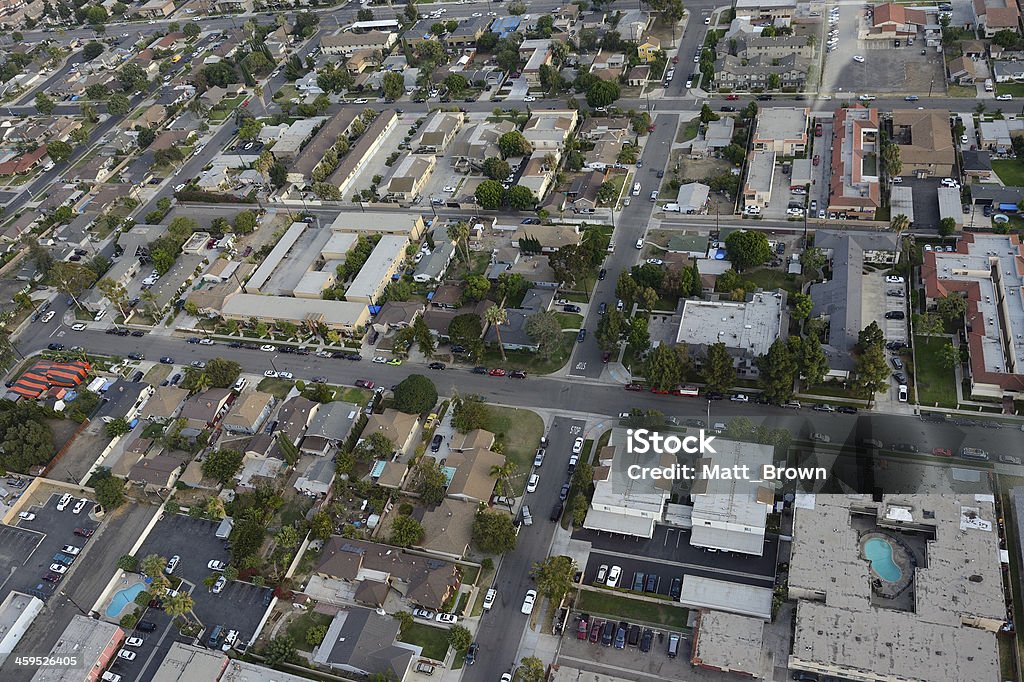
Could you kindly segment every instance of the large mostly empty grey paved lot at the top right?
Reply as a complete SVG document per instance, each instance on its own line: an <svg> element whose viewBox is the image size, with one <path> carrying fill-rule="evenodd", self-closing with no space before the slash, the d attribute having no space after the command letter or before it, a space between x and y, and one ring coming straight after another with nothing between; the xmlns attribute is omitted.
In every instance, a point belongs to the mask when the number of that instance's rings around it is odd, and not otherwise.
<svg viewBox="0 0 1024 682"><path fill-rule="evenodd" d="M934 18L934 16L932 17ZM927 94L941 93L944 87L944 61L935 48L926 50L924 36L919 35L913 45L905 41L896 47L893 40L860 40L858 35L869 26L862 5L840 5L839 43L825 54L822 92L836 97L860 94L902 92ZM824 33L828 32L827 22ZM822 36L822 44L827 36ZM922 50L926 50L922 54ZM864 57L862 63L854 55ZM934 83L933 83L934 81Z"/></svg>

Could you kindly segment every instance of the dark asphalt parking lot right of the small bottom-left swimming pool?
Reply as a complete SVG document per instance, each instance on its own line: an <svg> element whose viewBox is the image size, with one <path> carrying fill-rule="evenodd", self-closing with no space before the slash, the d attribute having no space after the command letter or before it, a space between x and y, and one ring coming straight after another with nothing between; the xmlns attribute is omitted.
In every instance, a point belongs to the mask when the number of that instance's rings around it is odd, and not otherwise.
<svg viewBox="0 0 1024 682"><path fill-rule="evenodd" d="M240 642L248 642L267 608L271 590L232 581L220 594L213 594L203 584L213 572L207 568L210 560L226 563L229 559L227 543L215 535L217 525L215 521L183 514L166 515L154 526L136 556L180 556L174 576L193 586L191 596L196 602L193 611L207 633L214 626L222 625L225 629L238 630ZM147 616L147 620L152 619Z"/></svg>

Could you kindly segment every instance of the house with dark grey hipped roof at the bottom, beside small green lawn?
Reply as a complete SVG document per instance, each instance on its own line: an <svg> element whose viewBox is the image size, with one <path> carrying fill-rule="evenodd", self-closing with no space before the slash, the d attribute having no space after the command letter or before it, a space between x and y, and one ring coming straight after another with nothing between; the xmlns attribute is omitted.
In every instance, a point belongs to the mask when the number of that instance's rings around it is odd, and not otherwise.
<svg viewBox="0 0 1024 682"><path fill-rule="evenodd" d="M312 662L361 677L406 679L421 648L397 640L400 623L369 608L339 610Z"/></svg>

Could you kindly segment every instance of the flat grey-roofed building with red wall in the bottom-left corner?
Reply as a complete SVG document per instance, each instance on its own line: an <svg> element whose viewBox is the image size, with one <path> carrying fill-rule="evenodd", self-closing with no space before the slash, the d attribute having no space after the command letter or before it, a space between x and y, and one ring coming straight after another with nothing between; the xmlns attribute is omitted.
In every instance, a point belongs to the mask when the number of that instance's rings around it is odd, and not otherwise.
<svg viewBox="0 0 1024 682"><path fill-rule="evenodd" d="M50 656L75 656L75 667L40 668L32 682L81 682L98 680L110 666L121 644L125 631L114 625L85 615L73 615L71 623L50 649ZM46 655L42 651L38 655Z"/></svg>

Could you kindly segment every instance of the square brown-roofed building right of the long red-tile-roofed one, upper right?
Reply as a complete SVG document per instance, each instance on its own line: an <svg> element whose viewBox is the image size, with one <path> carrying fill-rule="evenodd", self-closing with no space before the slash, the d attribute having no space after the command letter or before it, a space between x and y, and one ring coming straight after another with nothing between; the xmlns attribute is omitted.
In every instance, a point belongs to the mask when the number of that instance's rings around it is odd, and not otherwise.
<svg viewBox="0 0 1024 682"><path fill-rule="evenodd" d="M893 141L899 146L902 175L948 177L956 163L949 112L901 109L892 113Z"/></svg>

